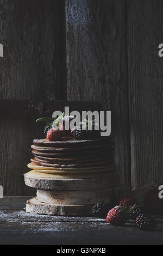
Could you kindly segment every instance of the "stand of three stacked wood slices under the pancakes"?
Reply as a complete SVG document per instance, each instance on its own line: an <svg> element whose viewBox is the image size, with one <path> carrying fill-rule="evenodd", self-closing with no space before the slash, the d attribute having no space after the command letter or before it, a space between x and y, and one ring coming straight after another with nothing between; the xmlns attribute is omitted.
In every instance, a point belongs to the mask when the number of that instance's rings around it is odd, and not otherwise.
<svg viewBox="0 0 163 256"><path fill-rule="evenodd" d="M55 216L92 216L92 206L97 202L111 205L115 197L128 193L126 187L117 186L114 170L84 176L77 174L78 178L74 178L74 175L52 175L35 170L24 174L26 185L37 189L37 196L27 201L26 211Z"/></svg>

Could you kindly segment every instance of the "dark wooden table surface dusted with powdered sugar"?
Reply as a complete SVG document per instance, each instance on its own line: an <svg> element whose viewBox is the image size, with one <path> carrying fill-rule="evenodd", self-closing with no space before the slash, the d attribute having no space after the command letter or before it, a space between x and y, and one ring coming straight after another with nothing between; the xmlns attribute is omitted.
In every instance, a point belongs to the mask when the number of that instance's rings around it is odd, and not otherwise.
<svg viewBox="0 0 163 256"><path fill-rule="evenodd" d="M0 199L1 245L162 245L163 216L155 216L155 231L114 227L104 219L27 214L29 197Z"/></svg>

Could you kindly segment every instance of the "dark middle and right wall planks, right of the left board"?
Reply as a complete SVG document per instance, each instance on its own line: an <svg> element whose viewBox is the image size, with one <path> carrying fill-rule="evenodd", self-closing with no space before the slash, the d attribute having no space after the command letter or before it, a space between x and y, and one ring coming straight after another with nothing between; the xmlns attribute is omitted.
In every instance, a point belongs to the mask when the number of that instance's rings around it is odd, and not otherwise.
<svg viewBox="0 0 163 256"><path fill-rule="evenodd" d="M163 181L161 0L67 0L68 100L112 111L120 181Z"/></svg>

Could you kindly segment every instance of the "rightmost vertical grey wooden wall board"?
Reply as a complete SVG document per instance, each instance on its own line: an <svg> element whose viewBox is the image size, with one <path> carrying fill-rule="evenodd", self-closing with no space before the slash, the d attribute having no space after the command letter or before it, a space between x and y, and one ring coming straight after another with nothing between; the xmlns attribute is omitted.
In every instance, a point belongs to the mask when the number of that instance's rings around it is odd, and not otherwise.
<svg viewBox="0 0 163 256"><path fill-rule="evenodd" d="M161 0L128 1L129 106L131 130L131 179L133 189L162 173L162 80L163 58Z"/></svg>

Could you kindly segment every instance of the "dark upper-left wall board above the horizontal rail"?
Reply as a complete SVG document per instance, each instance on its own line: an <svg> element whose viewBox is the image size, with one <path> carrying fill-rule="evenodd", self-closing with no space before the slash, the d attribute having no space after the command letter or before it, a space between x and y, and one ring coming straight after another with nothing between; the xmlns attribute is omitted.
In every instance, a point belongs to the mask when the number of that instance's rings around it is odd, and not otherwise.
<svg viewBox="0 0 163 256"><path fill-rule="evenodd" d="M1 99L54 100L62 90L61 3L0 0ZM64 5L63 7L64 8ZM57 88L58 87L58 88ZM59 93L58 93L59 94Z"/></svg>

